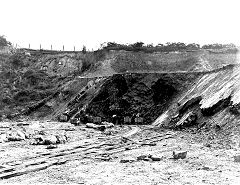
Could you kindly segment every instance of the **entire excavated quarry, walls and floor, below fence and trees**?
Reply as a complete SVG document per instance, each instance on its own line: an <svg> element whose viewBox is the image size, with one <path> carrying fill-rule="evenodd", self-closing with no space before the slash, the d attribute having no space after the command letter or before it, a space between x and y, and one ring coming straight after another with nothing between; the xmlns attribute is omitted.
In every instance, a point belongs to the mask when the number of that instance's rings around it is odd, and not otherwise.
<svg viewBox="0 0 240 185"><path fill-rule="evenodd" d="M1 54L0 184L238 184L237 56Z"/></svg>

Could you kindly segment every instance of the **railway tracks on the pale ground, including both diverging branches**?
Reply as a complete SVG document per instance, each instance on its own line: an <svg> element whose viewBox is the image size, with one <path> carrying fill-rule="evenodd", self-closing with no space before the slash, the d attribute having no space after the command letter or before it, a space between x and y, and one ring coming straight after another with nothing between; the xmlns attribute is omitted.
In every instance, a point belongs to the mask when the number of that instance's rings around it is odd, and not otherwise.
<svg viewBox="0 0 240 185"><path fill-rule="evenodd" d="M18 163L16 163L16 161L7 161L0 166L0 179L20 176L43 170L53 165L61 165L68 161L81 160L84 158L108 161L113 154L141 147L146 142L153 143L167 139L174 135L172 132L167 132L135 141L132 137L140 132L141 129L137 126L131 126L130 128L130 131L125 134L94 139L89 143L75 145L67 149L42 152L35 156L22 158Z"/></svg>

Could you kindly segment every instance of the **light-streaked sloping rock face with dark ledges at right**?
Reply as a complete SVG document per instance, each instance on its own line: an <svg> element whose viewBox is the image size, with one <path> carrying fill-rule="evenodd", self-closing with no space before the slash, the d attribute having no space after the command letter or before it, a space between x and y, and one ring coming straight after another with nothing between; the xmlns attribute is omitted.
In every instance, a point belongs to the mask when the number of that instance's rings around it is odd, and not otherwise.
<svg viewBox="0 0 240 185"><path fill-rule="evenodd" d="M239 66L227 66L225 69L203 75L186 93L177 98L177 110L174 112L171 105L165 119L159 119L155 124L170 128L203 123L214 128L233 127L239 120L240 111L239 71ZM189 124L190 114L196 115L197 118Z"/></svg>

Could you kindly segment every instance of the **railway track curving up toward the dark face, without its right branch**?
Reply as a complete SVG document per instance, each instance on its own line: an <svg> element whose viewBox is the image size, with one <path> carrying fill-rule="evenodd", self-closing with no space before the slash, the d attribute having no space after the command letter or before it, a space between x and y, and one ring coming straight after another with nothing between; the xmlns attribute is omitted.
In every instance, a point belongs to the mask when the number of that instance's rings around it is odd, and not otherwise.
<svg viewBox="0 0 240 185"><path fill-rule="evenodd" d="M130 136L138 131L134 127L124 135ZM71 148L42 152L31 157L22 158L21 161L7 161L0 167L0 179L10 178L26 174L41 169L46 169L52 165L63 164L69 160L83 158L96 152L104 146L113 145L109 141L118 141L122 135L105 137L104 139L94 139L89 143L78 144Z"/></svg>

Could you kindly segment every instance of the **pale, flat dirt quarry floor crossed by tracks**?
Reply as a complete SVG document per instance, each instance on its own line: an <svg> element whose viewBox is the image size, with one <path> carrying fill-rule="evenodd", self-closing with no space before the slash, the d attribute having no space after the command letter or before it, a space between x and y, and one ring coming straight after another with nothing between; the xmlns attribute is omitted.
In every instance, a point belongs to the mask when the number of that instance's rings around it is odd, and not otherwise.
<svg viewBox="0 0 240 185"><path fill-rule="evenodd" d="M19 123L0 123L2 132ZM154 129L151 126L115 126L104 132L70 123L27 122L29 132L67 135L56 149L31 145L31 138L0 143L0 175L13 167L30 170L3 178L0 184L239 184L238 143L229 147L202 142L195 132ZM206 137L205 141L209 140ZM215 144L214 144L215 143ZM185 159L173 159L173 151L187 151ZM65 152L65 153L64 153ZM49 154L50 153L50 154ZM56 155L56 154L61 154ZM64 153L64 155L63 155ZM48 155L49 154L49 155ZM160 158L137 159L142 155ZM49 157L48 157L49 156ZM60 158L59 158L60 156ZM52 159L58 160L51 163ZM40 160L41 163L36 162ZM59 162L62 161L62 162ZM44 161L44 162L42 162ZM48 163L45 163L45 162ZM38 168L41 164L46 168ZM39 170L38 170L39 169ZM10 173L12 173L10 171Z"/></svg>

